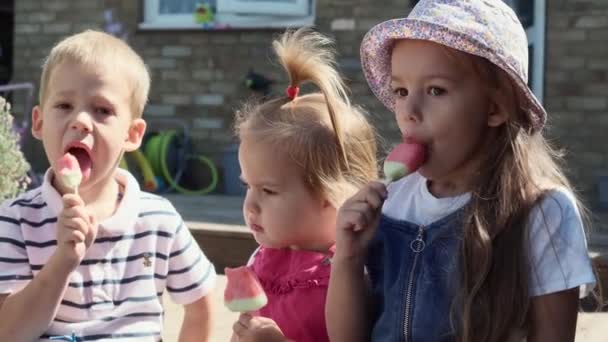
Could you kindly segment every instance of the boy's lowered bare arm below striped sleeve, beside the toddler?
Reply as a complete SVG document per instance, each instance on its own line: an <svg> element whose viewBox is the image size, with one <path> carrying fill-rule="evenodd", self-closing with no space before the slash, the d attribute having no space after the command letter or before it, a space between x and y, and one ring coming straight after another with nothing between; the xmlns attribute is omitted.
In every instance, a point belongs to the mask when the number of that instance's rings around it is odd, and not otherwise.
<svg viewBox="0 0 608 342"><path fill-rule="evenodd" d="M211 330L210 294L184 306L184 321L179 342L207 342Z"/></svg>

